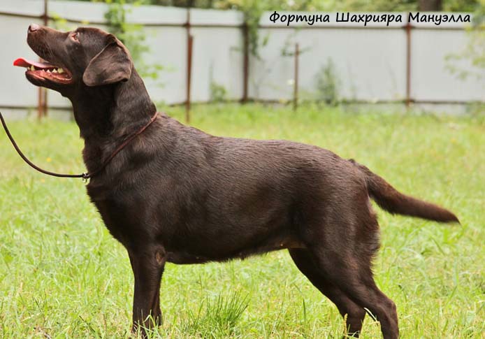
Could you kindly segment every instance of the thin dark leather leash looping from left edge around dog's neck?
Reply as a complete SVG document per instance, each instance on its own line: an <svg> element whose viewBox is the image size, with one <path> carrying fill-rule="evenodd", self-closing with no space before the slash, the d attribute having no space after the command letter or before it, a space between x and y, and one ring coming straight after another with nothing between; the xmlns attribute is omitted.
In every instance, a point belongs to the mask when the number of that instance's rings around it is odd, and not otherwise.
<svg viewBox="0 0 485 339"><path fill-rule="evenodd" d="M36 164L32 163L32 161L30 161L29 159L27 159L27 157L25 157L25 155L22 153L22 151L18 147L17 143L15 143L15 140L13 139L12 134L10 134L10 131L8 130L7 124L5 123L5 120L3 119L3 115L1 115L1 112L0 112L0 120L1 120L1 124L3 125L3 129L5 129L5 132L6 132L7 136L8 136L8 138L10 139L10 142L12 143L12 145L15 148L15 150L17 151L17 153L20 155L20 157L29 166L31 166L32 168L34 168L36 171L39 171L39 172L44 173L44 174L47 174L47 175L52 175L53 177L57 177L57 178L82 178L82 180L87 181L88 179L93 178L95 175L97 175L101 171L103 171L103 169L109 164L109 162L111 160L113 160L113 158L116 156L116 154L118 154L124 147L126 147L126 145L128 145L131 142L131 140L133 140L134 138L136 138L137 136L139 136L140 134L142 134L143 131L145 131L145 129L147 129L147 127L149 127L152 124L152 122L154 122L155 120L157 120L157 115L158 115L158 112L154 114L154 116L152 117L152 119L150 119L150 122L148 122L147 124L145 124L145 126L143 126L142 128L138 129L138 131L136 131L135 133L131 134L131 136L129 136L129 138L127 138L126 140L124 140L124 142L121 143L120 146L118 146L116 148L116 150L113 153L110 154L110 156L106 159L106 161L103 162L103 164L101 164L101 166L99 166L99 168L97 168L95 171L92 171L90 173L88 172L88 173L81 173L81 174L55 173L55 172L51 172L51 171L46 171L45 169L42 169L39 166L36 166Z"/></svg>

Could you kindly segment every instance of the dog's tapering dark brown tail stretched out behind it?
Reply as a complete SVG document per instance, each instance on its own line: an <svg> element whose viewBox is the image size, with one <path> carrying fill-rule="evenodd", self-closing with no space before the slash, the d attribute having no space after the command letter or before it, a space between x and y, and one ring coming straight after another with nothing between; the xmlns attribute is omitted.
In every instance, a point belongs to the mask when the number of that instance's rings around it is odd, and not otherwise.
<svg viewBox="0 0 485 339"><path fill-rule="evenodd" d="M369 168L352 159L350 161L365 173L370 197L384 210L393 214L410 215L411 217L420 217L436 222L460 222L456 215L449 210L441 208L434 203L428 203L402 194L392 187L389 182L372 173Z"/></svg>

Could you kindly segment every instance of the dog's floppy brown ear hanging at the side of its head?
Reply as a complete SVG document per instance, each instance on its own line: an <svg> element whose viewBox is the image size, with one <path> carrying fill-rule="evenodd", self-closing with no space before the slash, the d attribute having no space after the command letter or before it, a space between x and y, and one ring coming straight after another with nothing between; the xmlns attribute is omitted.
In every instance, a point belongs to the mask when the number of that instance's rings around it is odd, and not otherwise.
<svg viewBox="0 0 485 339"><path fill-rule="evenodd" d="M128 50L117 38L114 38L89 62L82 75L82 81L87 86L126 81L131 77L132 69L133 62Z"/></svg>

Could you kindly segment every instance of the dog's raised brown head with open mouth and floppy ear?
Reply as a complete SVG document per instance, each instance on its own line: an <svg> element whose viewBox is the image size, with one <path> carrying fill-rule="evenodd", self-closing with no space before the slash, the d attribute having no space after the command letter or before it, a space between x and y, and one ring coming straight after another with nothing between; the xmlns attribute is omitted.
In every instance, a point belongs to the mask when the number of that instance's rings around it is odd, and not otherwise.
<svg viewBox="0 0 485 339"><path fill-rule="evenodd" d="M113 34L80 27L61 32L31 24L27 43L46 62L17 59L26 67L27 79L37 86L71 94L80 87L112 85L129 80L133 62L128 50Z"/></svg>

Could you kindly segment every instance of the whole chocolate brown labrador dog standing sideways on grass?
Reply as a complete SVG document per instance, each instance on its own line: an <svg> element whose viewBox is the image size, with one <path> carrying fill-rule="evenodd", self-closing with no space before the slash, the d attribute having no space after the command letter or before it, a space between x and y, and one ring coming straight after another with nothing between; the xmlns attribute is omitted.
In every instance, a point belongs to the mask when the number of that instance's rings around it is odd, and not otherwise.
<svg viewBox="0 0 485 339"><path fill-rule="evenodd" d="M458 222L453 213L320 147L211 136L157 113L129 51L100 29L64 33L31 24L27 42L48 62L15 64L27 67L34 85L71 100L85 164L98 172L87 194L128 251L133 329L161 322L166 262L287 249L346 316L349 334L359 335L369 310L384 338L398 338L396 306L372 278L379 226L370 199L391 213L437 222Z"/></svg>

